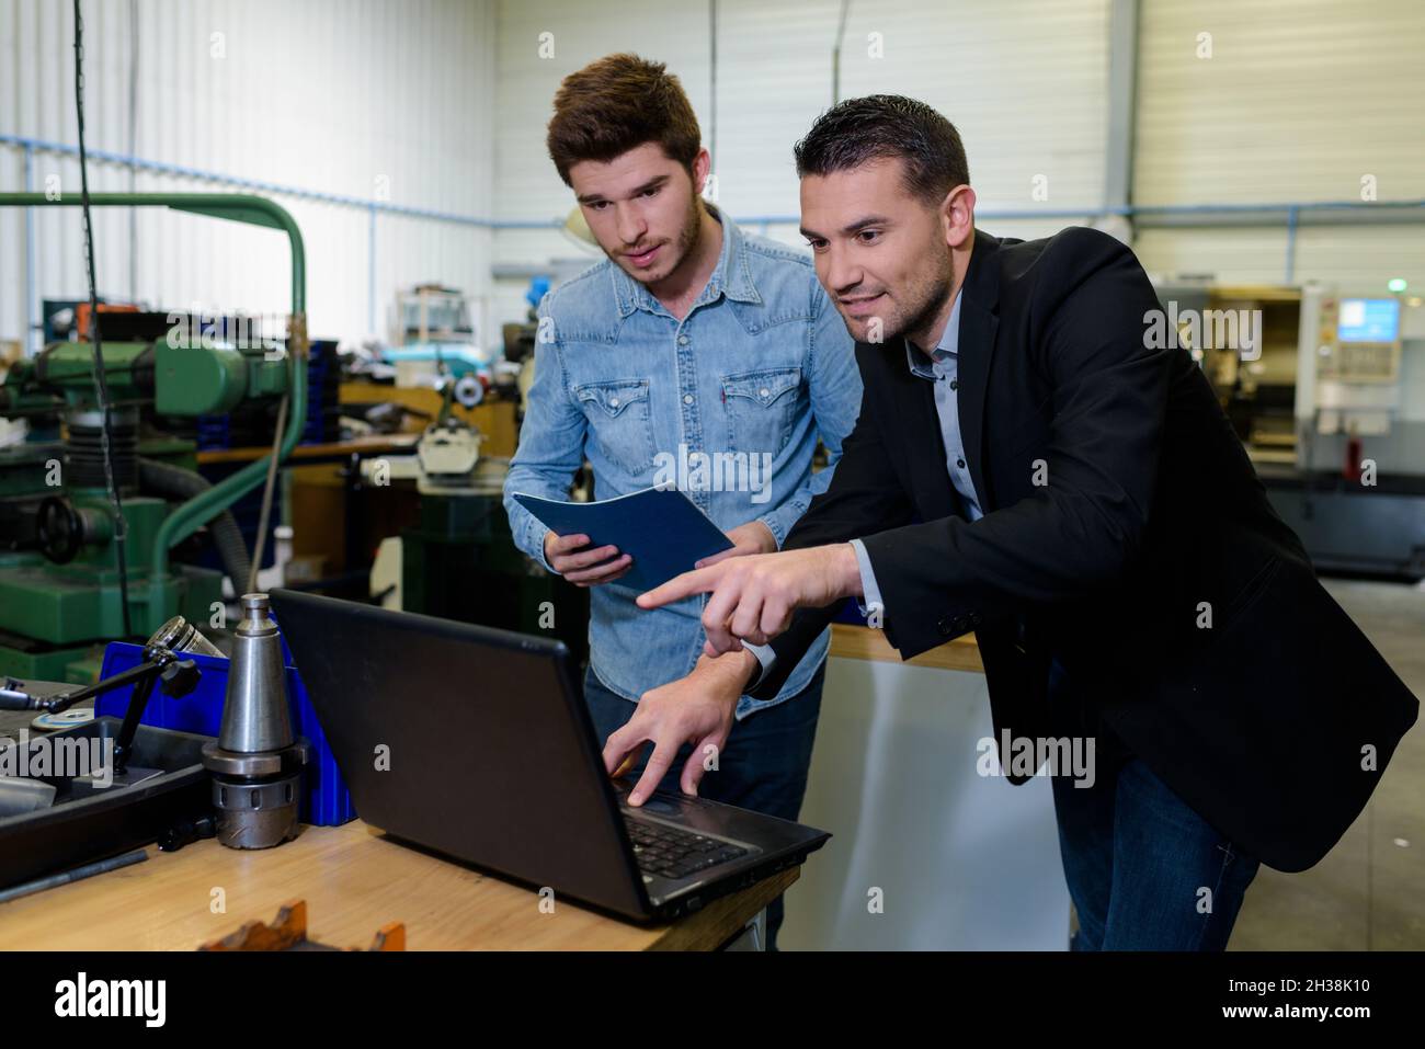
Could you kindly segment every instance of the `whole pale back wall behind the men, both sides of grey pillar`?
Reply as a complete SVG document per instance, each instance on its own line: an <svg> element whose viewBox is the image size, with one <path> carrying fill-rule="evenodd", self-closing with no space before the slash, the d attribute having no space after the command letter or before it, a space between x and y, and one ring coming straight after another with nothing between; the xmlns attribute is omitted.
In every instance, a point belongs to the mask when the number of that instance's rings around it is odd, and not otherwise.
<svg viewBox="0 0 1425 1049"><path fill-rule="evenodd" d="M496 200L503 218L550 218L571 205L543 148L559 80L616 50L667 61L712 137L707 0L500 0ZM720 200L734 217L791 215L791 144L831 100L838 0L717 3ZM842 97L912 94L965 138L980 212L1092 208L1107 161L1107 0L854 0ZM540 57L540 34L553 57ZM1201 33L1213 53L1200 58ZM874 37L872 34L879 34ZM869 57L879 44L884 57ZM547 48L546 48L547 50ZM1143 0L1133 200L1213 205L1425 198L1425 6L1342 0ZM1036 175L1047 200L1035 200ZM1010 222L1042 235L1073 218ZM797 241L789 225L772 235ZM1425 284L1419 225L1302 222L1292 278ZM1257 228L1143 229L1144 264L1164 274L1282 282L1285 222ZM537 265L577 254L544 232L496 237L496 259ZM502 299L504 306L507 299ZM509 312L509 311L506 311Z"/></svg>

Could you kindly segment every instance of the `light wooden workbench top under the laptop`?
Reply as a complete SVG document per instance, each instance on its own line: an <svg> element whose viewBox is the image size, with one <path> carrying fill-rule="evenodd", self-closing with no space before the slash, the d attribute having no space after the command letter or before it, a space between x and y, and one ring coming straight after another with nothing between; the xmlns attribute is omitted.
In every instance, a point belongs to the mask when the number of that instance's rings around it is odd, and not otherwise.
<svg viewBox="0 0 1425 1049"><path fill-rule="evenodd" d="M640 926L388 839L358 821L304 827L274 849L200 841L86 881L0 904L0 949L194 951L244 922L306 901L308 934L368 946L386 922L408 951L711 951L797 881L799 868L722 896L671 925ZM221 889L225 912L214 912Z"/></svg>

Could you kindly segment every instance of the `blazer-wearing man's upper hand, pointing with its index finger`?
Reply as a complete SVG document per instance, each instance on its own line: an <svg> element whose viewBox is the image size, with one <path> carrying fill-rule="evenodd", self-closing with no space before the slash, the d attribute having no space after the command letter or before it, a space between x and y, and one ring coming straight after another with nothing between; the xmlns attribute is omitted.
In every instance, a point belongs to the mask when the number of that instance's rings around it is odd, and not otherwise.
<svg viewBox="0 0 1425 1049"><path fill-rule="evenodd" d="M703 650L715 657L740 651L742 641L767 644L797 609L861 597L861 569L851 543L730 557L638 594L638 607L660 609L694 594L711 594L703 607Z"/></svg>

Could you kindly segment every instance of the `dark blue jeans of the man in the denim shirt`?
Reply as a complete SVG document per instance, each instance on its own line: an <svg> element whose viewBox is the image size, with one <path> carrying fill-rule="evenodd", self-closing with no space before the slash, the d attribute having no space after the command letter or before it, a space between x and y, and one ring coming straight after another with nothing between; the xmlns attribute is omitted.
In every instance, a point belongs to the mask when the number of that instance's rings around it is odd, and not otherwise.
<svg viewBox="0 0 1425 1049"><path fill-rule="evenodd" d="M735 723L718 754L717 770L703 774L698 797L781 820L797 820L802 795L807 794L807 768L811 765L811 750L817 740L817 717L821 714L821 687L825 677L826 664L822 663L807 687L789 700ZM600 745L614 731L623 728L637 708L636 703L608 691L593 670L584 674L584 701L594 720ZM651 753L653 747L644 744L644 753L628 772L630 782L637 782L643 775ZM681 792L678 780L683 775L683 764L691 753L690 745L678 751L678 757L658 784L660 790ZM768 951L777 949L777 929L781 925L782 898L778 896L767 905Z"/></svg>

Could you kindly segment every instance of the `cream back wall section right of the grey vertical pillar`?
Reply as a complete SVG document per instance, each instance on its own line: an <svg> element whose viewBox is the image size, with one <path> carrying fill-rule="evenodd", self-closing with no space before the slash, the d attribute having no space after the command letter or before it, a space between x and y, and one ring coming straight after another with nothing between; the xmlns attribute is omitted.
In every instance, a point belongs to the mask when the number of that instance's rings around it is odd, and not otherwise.
<svg viewBox="0 0 1425 1049"><path fill-rule="evenodd" d="M1144 0L1136 204L1359 201L1368 175L1379 201L1425 198L1421 0ZM1136 248L1164 274L1285 278L1284 224L1144 229ZM1425 227L1298 229L1297 282L1392 277L1425 285Z"/></svg>

